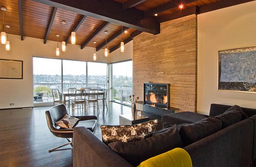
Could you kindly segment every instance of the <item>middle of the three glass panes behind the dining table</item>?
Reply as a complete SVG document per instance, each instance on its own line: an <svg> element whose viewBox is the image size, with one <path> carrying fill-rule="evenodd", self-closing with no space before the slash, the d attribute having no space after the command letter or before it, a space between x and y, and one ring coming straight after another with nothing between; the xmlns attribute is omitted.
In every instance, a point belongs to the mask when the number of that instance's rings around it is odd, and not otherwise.
<svg viewBox="0 0 256 167"><path fill-rule="evenodd" d="M86 62L63 60L63 91L86 87Z"/></svg>

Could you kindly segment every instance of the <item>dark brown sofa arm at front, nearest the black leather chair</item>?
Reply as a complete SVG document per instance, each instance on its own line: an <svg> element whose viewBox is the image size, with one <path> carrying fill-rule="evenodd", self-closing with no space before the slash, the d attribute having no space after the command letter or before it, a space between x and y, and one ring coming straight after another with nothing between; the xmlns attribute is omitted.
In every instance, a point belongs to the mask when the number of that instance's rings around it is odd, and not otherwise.
<svg viewBox="0 0 256 167"><path fill-rule="evenodd" d="M132 167L85 127L73 133L73 167Z"/></svg>

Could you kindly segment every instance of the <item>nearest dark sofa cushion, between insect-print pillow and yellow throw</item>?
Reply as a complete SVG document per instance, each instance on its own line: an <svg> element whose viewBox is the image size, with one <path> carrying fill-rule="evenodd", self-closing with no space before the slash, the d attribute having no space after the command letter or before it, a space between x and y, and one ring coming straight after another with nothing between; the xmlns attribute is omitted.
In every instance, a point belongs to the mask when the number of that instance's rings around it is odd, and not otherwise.
<svg viewBox="0 0 256 167"><path fill-rule="evenodd" d="M177 126L166 128L152 137L138 142L114 142L108 146L134 167L142 161L165 153L176 147L183 147ZM120 165L122 166L122 165Z"/></svg>

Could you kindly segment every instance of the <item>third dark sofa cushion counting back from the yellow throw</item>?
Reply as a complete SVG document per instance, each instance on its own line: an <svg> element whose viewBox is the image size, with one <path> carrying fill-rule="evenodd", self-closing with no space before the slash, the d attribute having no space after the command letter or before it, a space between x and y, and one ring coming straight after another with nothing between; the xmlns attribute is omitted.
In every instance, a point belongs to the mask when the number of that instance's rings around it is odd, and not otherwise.
<svg viewBox="0 0 256 167"><path fill-rule="evenodd" d="M224 112L221 115L215 116L215 118L221 120L222 129L230 125L235 124L241 120L242 114L238 111L230 110L229 112Z"/></svg>

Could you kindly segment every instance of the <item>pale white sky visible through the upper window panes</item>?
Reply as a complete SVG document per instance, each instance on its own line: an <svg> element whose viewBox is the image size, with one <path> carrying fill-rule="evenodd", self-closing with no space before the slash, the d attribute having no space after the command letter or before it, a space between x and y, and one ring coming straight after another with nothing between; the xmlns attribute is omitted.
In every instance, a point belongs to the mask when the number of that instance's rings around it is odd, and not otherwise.
<svg viewBox="0 0 256 167"><path fill-rule="evenodd" d="M33 57L35 75L61 75L61 59ZM64 75L86 74L86 62L63 60ZM88 75L107 75L107 64L88 62ZM132 61L113 64L113 75L132 76Z"/></svg>

